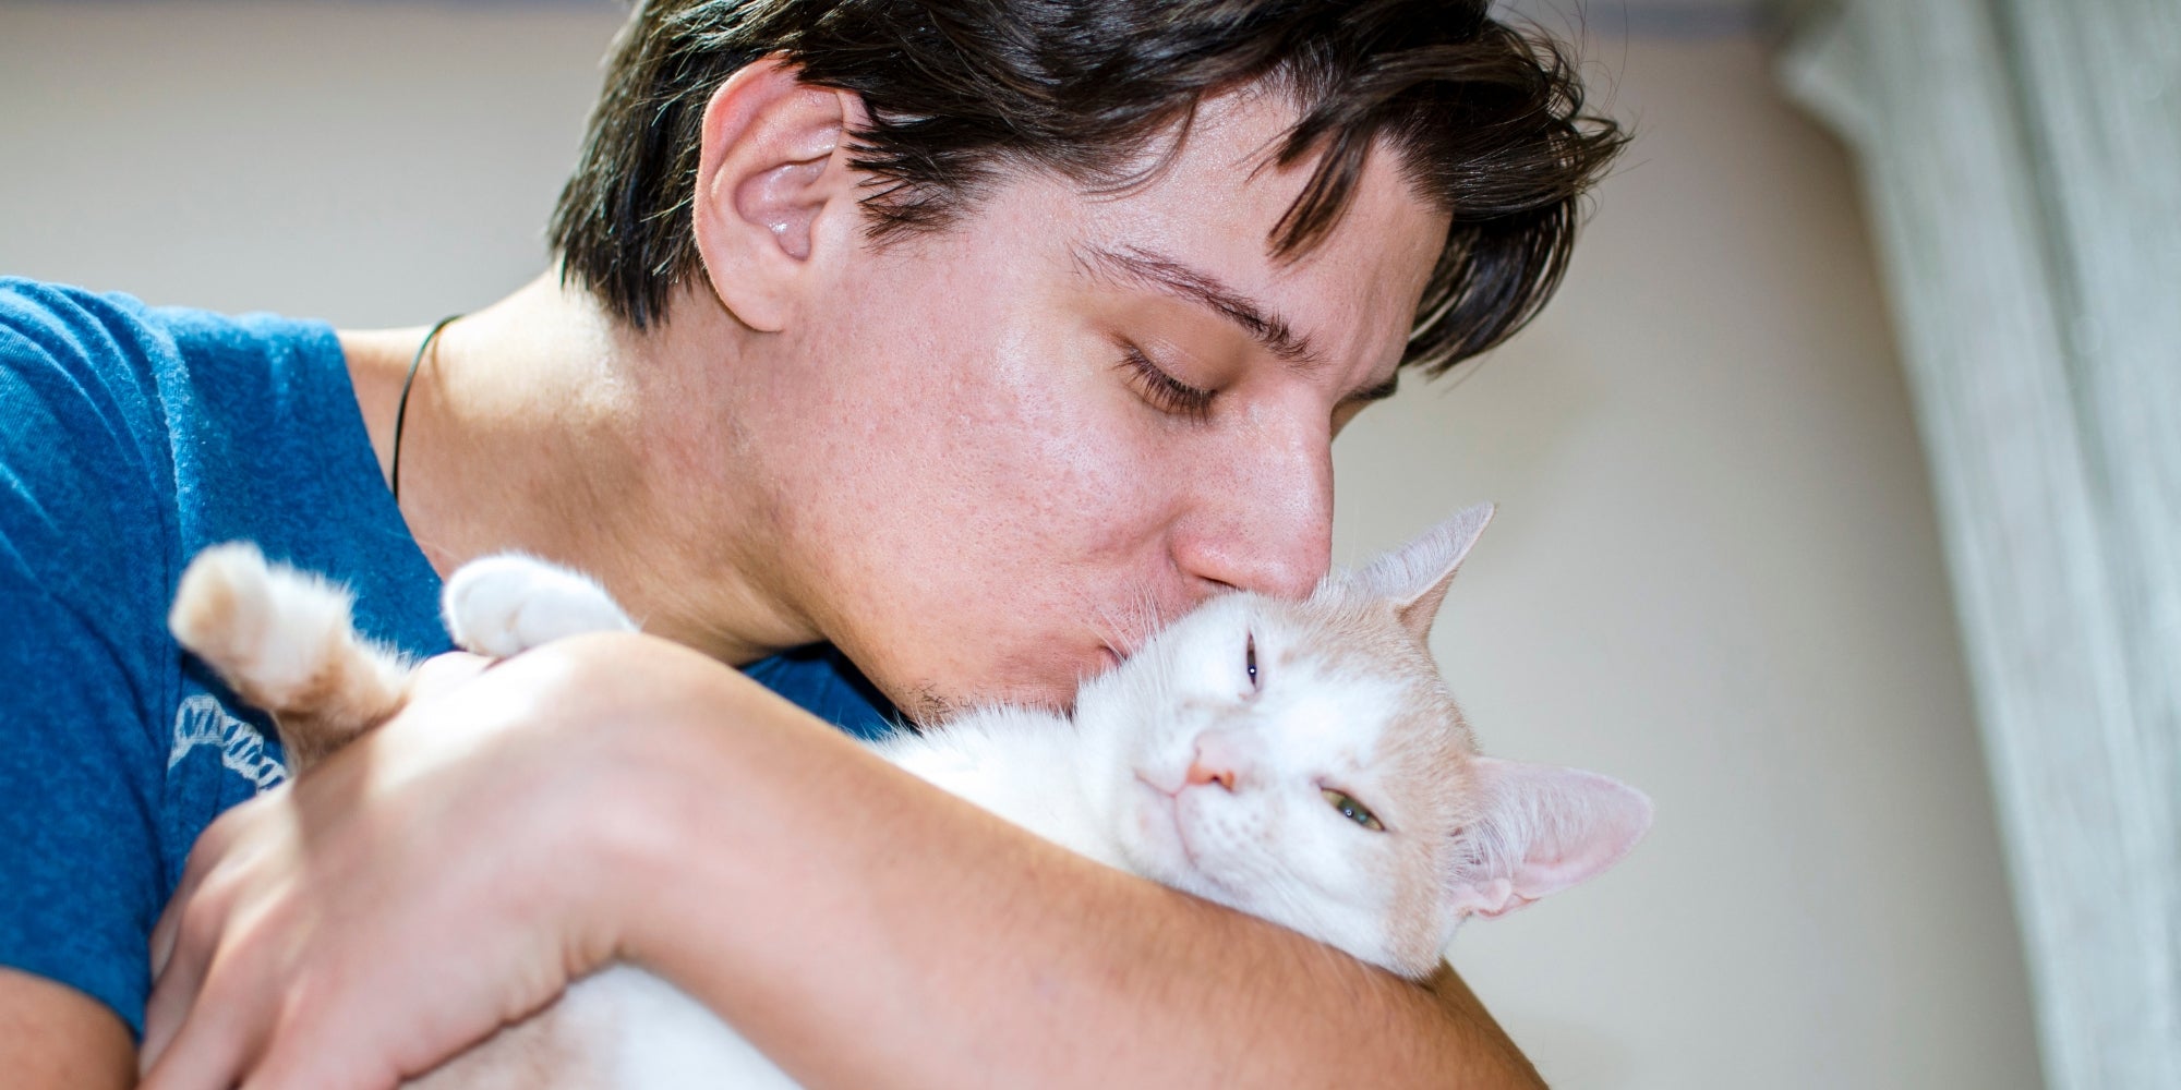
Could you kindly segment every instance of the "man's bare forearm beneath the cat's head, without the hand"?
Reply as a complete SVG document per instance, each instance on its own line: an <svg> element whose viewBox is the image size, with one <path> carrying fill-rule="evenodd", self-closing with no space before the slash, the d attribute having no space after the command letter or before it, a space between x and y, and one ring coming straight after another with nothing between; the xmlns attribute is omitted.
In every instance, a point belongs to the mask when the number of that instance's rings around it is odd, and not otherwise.
<svg viewBox="0 0 2181 1090"><path fill-rule="evenodd" d="M626 955L809 1086L1535 1086L1426 990L1101 868L691 669L704 791L626 828ZM656 807L670 807L661 815ZM707 850L691 855L689 844Z"/></svg>

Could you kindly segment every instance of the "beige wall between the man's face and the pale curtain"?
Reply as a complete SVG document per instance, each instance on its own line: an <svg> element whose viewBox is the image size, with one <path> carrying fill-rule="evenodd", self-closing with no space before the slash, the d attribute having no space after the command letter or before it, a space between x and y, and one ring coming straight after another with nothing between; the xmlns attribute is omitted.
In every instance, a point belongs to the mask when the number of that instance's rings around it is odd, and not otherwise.
<svg viewBox="0 0 2181 1090"><path fill-rule="evenodd" d="M2037 1086L1843 150L1754 44L1592 55L1640 135L1564 296L1339 451L1357 549L1503 504L1435 641L1483 743L1658 802L1623 870L1455 964L1566 1086Z"/></svg>

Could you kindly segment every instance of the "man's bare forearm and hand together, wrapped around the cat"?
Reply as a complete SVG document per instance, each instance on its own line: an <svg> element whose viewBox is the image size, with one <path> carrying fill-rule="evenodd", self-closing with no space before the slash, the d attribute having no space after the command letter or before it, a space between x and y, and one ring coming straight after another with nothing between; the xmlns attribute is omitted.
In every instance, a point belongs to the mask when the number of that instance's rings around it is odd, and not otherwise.
<svg viewBox="0 0 2181 1090"><path fill-rule="evenodd" d="M159 1090L377 1090L606 957L811 1088L1538 1086L1453 977L1075 857L646 637L410 708L222 818L177 905Z"/></svg>

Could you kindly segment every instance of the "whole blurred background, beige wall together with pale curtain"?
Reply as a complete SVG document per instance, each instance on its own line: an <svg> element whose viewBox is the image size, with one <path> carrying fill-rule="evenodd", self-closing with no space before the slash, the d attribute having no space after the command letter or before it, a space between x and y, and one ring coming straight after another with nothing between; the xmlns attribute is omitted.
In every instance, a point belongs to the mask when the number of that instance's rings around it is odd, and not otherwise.
<svg viewBox="0 0 2181 1090"><path fill-rule="evenodd" d="M1658 802L1618 870L1455 944L1555 1086L2181 1086L2181 488L2113 447L2181 467L2181 214L2142 216L2166 137L2098 137L2181 111L2172 7L1514 4L1636 142L1546 314L1341 438L1335 547L1496 499L1455 693L1487 750ZM349 327L491 303L547 259L622 15L0 2L0 272ZM2039 107L2070 63L2124 111ZM2068 242L2100 185L2137 216L2111 290Z"/></svg>

